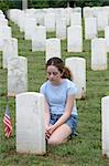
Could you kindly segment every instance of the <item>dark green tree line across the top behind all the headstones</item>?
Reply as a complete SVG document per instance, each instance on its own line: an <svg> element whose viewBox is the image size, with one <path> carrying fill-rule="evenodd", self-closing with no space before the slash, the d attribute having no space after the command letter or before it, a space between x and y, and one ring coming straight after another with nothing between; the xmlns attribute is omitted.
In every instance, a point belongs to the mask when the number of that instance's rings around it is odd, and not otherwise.
<svg viewBox="0 0 109 166"><path fill-rule="evenodd" d="M28 0L28 8L103 7L109 0ZM22 9L22 0L0 0L0 9Z"/></svg>

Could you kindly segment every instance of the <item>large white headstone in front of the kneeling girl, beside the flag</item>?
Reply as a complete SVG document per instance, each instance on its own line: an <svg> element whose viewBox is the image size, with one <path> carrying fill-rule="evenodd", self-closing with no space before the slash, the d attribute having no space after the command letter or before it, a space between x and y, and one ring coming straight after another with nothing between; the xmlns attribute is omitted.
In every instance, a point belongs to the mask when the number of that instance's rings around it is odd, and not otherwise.
<svg viewBox="0 0 109 166"><path fill-rule="evenodd" d="M15 97L17 152L43 155L45 147L44 96L26 92Z"/></svg>

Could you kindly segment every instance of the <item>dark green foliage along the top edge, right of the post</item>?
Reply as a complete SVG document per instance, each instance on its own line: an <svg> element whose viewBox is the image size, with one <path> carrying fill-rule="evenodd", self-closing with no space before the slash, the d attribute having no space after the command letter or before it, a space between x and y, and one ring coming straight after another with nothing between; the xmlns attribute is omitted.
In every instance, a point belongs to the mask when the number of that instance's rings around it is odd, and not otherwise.
<svg viewBox="0 0 109 166"><path fill-rule="evenodd" d="M29 0L29 8L66 8L109 6L108 0Z"/></svg>

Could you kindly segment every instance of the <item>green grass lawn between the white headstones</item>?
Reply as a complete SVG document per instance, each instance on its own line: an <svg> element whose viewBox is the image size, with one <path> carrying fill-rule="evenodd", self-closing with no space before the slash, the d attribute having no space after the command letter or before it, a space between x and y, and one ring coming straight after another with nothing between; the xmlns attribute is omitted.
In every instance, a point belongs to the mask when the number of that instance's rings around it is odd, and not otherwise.
<svg viewBox="0 0 109 166"><path fill-rule="evenodd" d="M32 52L31 41L24 40L24 34L19 28L10 22L12 34L19 40L19 55L28 59L29 91L39 92L45 81L45 52ZM55 33L47 33L47 38ZM99 32L103 37L103 32ZM62 41L62 58L81 56L86 59L87 96L86 100L77 100L78 107L78 136L67 143L47 147L44 156L18 154L15 152L15 100L9 98L10 115L13 133L10 139L3 134L3 113L6 111L7 95L7 70L1 68L2 53L0 53L0 165L1 166L108 166L109 159L101 154L101 97L109 94L109 54L108 70L90 70L90 41L84 40L81 53L68 53L66 41Z"/></svg>

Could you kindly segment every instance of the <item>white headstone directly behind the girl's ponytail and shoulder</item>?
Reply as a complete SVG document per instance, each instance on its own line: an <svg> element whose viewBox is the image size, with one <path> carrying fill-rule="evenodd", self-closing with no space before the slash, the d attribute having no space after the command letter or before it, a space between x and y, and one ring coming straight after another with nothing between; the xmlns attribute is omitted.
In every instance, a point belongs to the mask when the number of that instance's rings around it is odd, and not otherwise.
<svg viewBox="0 0 109 166"><path fill-rule="evenodd" d="M70 70L73 81L76 83L77 98L86 97L86 60L84 58L67 58L65 65Z"/></svg>

